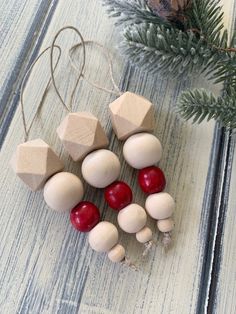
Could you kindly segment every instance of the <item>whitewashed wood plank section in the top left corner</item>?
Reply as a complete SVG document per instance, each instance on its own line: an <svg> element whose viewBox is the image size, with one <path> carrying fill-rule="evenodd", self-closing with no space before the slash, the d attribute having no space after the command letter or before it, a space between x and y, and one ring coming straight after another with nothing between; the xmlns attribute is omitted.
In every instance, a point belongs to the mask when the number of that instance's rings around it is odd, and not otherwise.
<svg viewBox="0 0 236 314"><path fill-rule="evenodd" d="M2 98L12 71L21 59L27 37L35 36L31 27L37 23L37 15L47 8L45 0L1 1L0 3L0 98ZM21 60L22 62L22 60ZM18 65L19 67L20 65ZM11 74L11 75L10 75Z"/></svg>

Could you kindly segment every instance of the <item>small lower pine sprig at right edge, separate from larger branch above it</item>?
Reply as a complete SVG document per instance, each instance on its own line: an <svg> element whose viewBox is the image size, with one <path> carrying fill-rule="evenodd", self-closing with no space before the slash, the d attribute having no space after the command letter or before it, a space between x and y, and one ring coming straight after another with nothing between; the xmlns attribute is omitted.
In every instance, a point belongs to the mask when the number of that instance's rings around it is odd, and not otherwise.
<svg viewBox="0 0 236 314"><path fill-rule="evenodd" d="M216 98L204 89L188 90L182 93L178 103L179 113L183 118L201 123L215 119L227 128L236 127L236 90Z"/></svg>

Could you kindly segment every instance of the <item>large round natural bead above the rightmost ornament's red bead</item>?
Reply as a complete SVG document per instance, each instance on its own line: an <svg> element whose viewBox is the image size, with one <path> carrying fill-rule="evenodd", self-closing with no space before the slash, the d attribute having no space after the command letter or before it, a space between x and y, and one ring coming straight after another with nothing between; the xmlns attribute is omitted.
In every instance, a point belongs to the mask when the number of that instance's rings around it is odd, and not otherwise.
<svg viewBox="0 0 236 314"><path fill-rule="evenodd" d="M158 138L149 133L138 133L127 139L123 147L124 158L135 169L142 169L157 163L162 156Z"/></svg>

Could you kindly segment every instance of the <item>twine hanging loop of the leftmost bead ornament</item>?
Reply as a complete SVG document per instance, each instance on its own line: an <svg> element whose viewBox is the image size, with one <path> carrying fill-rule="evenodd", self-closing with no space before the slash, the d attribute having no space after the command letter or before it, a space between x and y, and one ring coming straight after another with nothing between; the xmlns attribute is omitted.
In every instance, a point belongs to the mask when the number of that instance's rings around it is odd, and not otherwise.
<svg viewBox="0 0 236 314"><path fill-rule="evenodd" d="M24 91L25 91L25 86L26 86L26 83L29 79L29 74L30 72L32 71L33 67L35 66L35 64L39 61L39 59L42 57L42 55L48 51L49 49L51 48L50 47L47 47L45 48L39 55L38 57L34 60L34 62L30 65L29 69L26 71L24 77L23 77L23 80L22 80L22 83L21 83L21 87L20 87L20 108L21 108L21 117L22 117L22 122L23 122L23 128L24 128L24 142L26 142L28 140L28 137L29 137L29 133L30 133L30 130L32 128L32 125L36 119L36 116L38 115L40 109L42 108L42 105L43 105L43 101L45 99L45 96L48 92L48 87L51 83L51 78L49 79L47 85L46 85L46 88L45 88L45 91L43 93L43 96L41 98L41 101L38 105L38 108L36 110L36 113L35 115L33 116L31 122L29 123L29 126L27 127L27 122L26 122L26 116L25 116L25 109L24 109ZM54 74L55 70L56 70L56 67L58 65L58 62L60 60L60 57L61 57L61 48L57 45L55 45L55 48L59 49L59 55L58 55L58 58L57 58L57 61L56 61L56 64L54 66L54 68L52 68L52 72Z"/></svg>

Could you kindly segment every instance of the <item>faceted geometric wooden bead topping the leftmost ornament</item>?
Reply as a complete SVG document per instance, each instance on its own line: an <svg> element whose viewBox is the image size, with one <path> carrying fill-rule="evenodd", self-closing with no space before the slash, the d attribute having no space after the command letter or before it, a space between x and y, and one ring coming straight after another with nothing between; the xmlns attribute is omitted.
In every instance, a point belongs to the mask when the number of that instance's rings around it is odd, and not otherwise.
<svg viewBox="0 0 236 314"><path fill-rule="evenodd" d="M18 145L10 164L32 191L43 188L49 177L64 168L60 158L41 139Z"/></svg>

